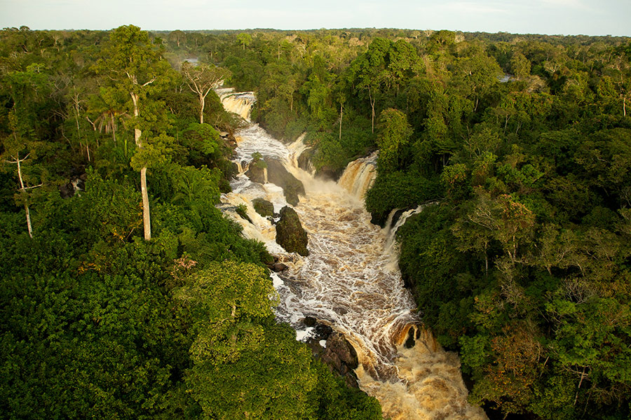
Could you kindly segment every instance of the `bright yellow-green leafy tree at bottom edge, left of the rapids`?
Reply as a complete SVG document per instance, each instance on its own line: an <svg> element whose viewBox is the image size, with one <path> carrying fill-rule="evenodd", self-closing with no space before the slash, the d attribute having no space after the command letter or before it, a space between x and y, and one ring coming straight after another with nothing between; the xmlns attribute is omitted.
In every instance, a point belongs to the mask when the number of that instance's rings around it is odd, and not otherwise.
<svg viewBox="0 0 631 420"><path fill-rule="evenodd" d="M196 339L186 379L207 418L308 418L311 355L272 319L264 269L212 263L177 297L191 306Z"/></svg>

